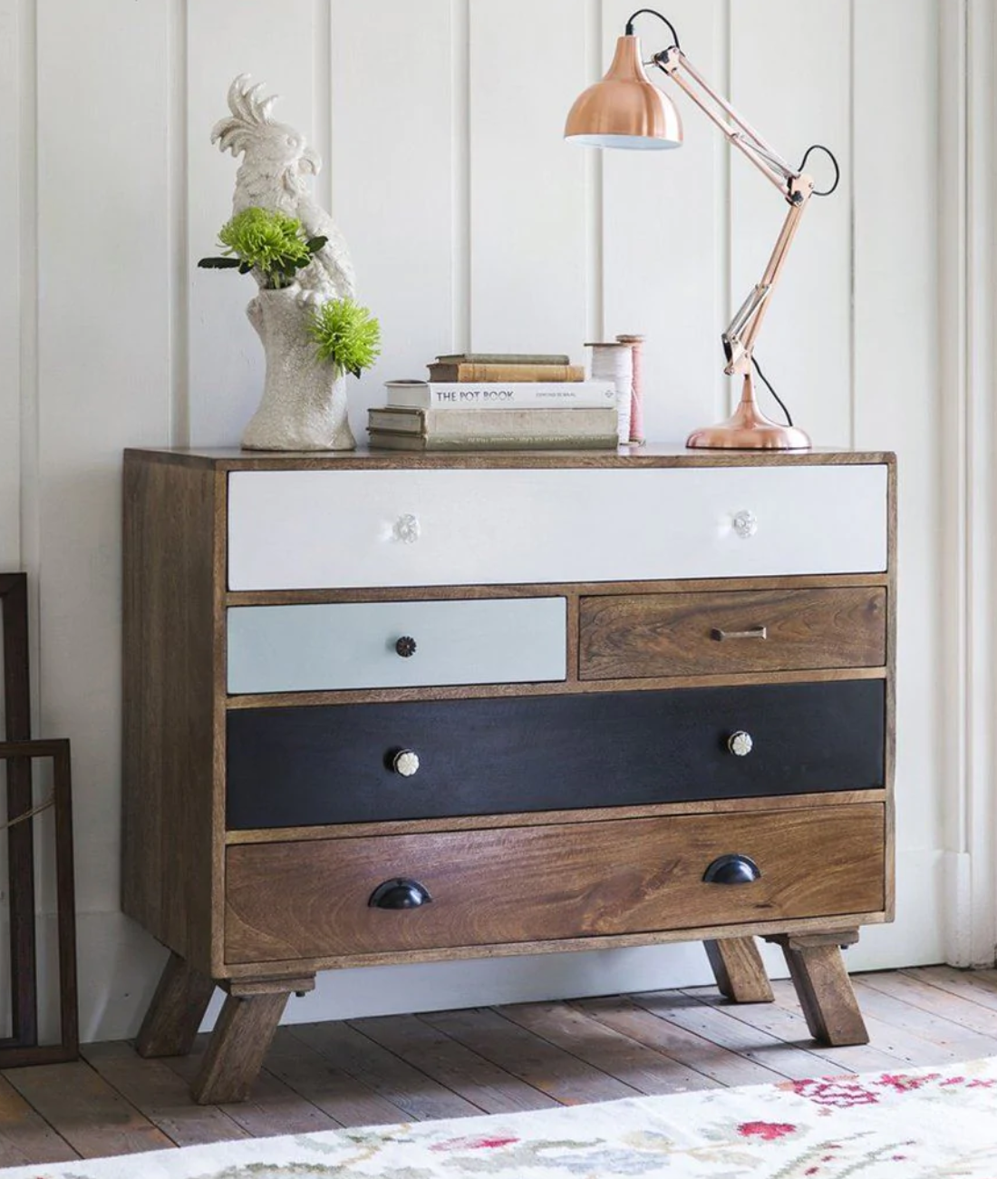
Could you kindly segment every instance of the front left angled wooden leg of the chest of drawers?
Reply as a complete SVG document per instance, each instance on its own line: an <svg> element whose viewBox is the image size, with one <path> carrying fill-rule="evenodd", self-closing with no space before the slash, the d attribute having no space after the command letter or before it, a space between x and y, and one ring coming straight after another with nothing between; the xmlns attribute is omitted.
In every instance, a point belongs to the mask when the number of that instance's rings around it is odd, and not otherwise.
<svg viewBox="0 0 997 1179"><path fill-rule="evenodd" d="M231 983L229 996L191 1086L199 1105L245 1101L292 992L315 987L311 979Z"/></svg>

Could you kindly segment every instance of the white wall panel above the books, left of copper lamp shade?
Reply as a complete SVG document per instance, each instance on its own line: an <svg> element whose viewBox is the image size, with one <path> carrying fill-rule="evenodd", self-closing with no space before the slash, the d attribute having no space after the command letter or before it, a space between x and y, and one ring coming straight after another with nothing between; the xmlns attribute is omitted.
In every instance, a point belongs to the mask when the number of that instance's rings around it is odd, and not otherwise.
<svg viewBox="0 0 997 1179"><path fill-rule="evenodd" d="M586 6L503 0L469 12L471 347L581 358L585 159L562 134L587 83Z"/></svg>

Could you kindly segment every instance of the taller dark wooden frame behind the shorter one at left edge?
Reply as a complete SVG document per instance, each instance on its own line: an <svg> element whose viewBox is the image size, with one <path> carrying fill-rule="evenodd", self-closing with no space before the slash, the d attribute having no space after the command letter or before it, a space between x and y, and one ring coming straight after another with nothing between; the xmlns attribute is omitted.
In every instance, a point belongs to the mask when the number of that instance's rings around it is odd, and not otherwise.
<svg viewBox="0 0 997 1179"><path fill-rule="evenodd" d="M4 619L4 705L7 742L31 739L27 574L0 573ZM31 760L7 768L7 819L32 806ZM11 909L11 1030L0 1050L38 1043L38 977L34 931L34 839L31 823L7 836L7 895Z"/></svg>

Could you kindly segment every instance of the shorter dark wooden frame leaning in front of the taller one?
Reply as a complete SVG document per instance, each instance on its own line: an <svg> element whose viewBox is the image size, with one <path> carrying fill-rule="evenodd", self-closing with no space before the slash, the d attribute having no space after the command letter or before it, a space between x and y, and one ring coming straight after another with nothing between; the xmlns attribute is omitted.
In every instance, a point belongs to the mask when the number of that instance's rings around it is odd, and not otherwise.
<svg viewBox="0 0 997 1179"><path fill-rule="evenodd" d="M77 929L75 929L75 884L73 877L73 810L72 780L70 771L70 743L57 740L0 742L0 760L31 766L34 759L47 758L52 762L52 788L55 810L55 895L57 922L59 936L59 1022L60 1040L53 1045L39 1045L37 1034L37 1012L32 1027L34 1040L31 1043L15 1042L15 1036L0 1041L0 1068L16 1068L21 1065L57 1065L79 1056L79 1015L77 1008ZM28 782L31 778L28 777ZM24 810L31 810L31 799ZM22 814L24 811L21 811ZM9 829L27 831L32 835L33 821L28 819ZM34 897L32 896L32 902ZM13 893L12 893L13 908ZM32 935L34 933L34 911L32 911ZM12 947L13 948L13 947ZM34 938L32 936L32 950ZM13 973L13 957L12 957ZM12 980L20 983L15 975ZM31 975L32 997L37 995L34 970ZM18 987L12 988L16 995ZM21 1027L19 1030L24 1032Z"/></svg>

